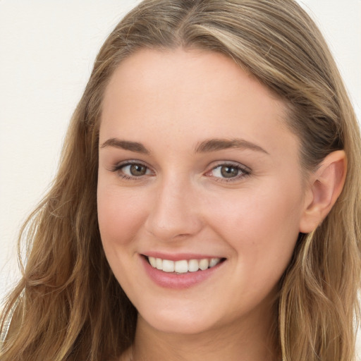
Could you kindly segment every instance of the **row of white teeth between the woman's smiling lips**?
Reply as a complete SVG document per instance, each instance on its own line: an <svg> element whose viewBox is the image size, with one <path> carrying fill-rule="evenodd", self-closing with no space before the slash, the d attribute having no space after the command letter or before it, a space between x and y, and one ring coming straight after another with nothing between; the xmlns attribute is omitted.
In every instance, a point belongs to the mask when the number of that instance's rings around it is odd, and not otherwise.
<svg viewBox="0 0 361 361"><path fill-rule="evenodd" d="M225 258L203 258L172 261L171 259L161 259L150 256L145 256L145 259L147 259L148 263L153 268L173 274L204 271L205 269L216 267L217 264L226 260Z"/></svg>

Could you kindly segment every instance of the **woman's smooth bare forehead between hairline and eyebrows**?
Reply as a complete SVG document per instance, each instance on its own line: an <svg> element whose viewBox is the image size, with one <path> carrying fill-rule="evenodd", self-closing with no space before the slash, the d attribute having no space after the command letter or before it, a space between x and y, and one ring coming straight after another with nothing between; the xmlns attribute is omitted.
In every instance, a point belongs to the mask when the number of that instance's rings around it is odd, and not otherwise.
<svg viewBox="0 0 361 361"><path fill-rule="evenodd" d="M222 54L143 49L118 66L106 87L100 136L104 140L121 131L138 140L147 131L161 139L176 135L197 142L237 133L262 141L270 132L291 136L285 109L267 87Z"/></svg>

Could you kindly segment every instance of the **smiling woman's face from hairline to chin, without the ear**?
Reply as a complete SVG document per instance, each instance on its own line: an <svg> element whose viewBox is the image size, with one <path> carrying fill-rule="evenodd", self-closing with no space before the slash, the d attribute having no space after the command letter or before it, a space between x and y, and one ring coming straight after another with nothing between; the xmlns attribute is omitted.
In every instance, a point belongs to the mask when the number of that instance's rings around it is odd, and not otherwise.
<svg viewBox="0 0 361 361"><path fill-rule="evenodd" d="M140 319L197 333L267 318L305 210L283 103L231 59L142 50L106 88L99 227Z"/></svg>

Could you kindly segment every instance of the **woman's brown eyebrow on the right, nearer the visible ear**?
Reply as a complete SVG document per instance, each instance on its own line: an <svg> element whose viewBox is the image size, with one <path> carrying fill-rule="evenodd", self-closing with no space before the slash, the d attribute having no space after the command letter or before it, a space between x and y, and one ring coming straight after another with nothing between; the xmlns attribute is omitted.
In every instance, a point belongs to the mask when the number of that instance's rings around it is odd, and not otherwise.
<svg viewBox="0 0 361 361"><path fill-rule="evenodd" d="M208 152L216 152L217 150L230 149L230 148L238 148L238 149L251 149L256 152L262 152L265 154L269 154L267 150L259 147L255 143L248 142L244 139L209 139L204 140L195 148L196 153L208 153Z"/></svg>

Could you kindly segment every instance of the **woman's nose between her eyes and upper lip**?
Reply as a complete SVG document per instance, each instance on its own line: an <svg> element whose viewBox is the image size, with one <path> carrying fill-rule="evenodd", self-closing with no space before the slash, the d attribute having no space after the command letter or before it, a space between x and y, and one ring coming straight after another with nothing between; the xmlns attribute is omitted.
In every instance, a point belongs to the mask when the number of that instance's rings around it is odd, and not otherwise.
<svg viewBox="0 0 361 361"><path fill-rule="evenodd" d="M190 182L164 180L154 192L146 230L159 240L178 240L202 229L199 195Z"/></svg>

